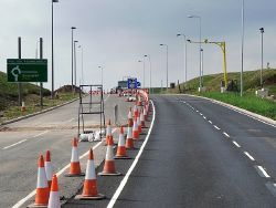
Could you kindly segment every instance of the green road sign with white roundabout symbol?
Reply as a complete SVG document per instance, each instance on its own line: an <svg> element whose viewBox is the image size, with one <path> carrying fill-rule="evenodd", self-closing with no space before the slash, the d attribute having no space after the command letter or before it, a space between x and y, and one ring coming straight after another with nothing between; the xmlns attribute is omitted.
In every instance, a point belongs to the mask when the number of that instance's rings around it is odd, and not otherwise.
<svg viewBox="0 0 276 208"><path fill-rule="evenodd" d="M47 60L8 59L8 82L47 82Z"/></svg>

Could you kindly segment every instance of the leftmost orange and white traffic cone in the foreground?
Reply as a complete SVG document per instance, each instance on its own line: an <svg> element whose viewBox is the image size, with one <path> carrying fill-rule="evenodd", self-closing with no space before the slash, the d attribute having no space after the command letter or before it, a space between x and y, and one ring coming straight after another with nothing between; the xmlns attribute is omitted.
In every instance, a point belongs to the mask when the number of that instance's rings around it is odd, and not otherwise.
<svg viewBox="0 0 276 208"><path fill-rule="evenodd" d="M36 195L33 205L28 207L47 207L50 189L47 186L47 178L44 167L44 158L41 155L39 158L38 167L38 184L36 184Z"/></svg>

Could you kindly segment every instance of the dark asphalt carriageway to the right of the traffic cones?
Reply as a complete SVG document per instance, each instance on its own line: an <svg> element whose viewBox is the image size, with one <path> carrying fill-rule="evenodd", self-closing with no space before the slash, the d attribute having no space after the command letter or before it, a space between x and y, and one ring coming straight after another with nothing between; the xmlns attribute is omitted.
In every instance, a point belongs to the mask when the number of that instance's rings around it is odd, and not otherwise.
<svg viewBox="0 0 276 208"><path fill-rule="evenodd" d="M202 98L152 100L155 124L132 173L98 177L107 199L64 207L276 207L275 126ZM132 162L117 169L126 175Z"/></svg>

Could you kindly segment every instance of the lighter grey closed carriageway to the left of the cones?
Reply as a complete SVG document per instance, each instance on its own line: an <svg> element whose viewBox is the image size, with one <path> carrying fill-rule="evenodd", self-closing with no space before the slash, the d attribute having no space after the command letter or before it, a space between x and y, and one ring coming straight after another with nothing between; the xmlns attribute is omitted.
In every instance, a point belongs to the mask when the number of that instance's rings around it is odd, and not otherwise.
<svg viewBox="0 0 276 208"><path fill-rule="evenodd" d="M129 103L117 95L106 95L105 113L114 121L114 106L119 105L119 121L127 122ZM72 138L77 134L78 101L68 105L22 119L0 132L0 207L12 207L28 196L36 186L38 158L45 150L52 153L53 170L56 173L70 163ZM85 125L98 124L91 116ZM91 145L96 145L92 143ZM89 143L79 143L78 154L88 150Z"/></svg>

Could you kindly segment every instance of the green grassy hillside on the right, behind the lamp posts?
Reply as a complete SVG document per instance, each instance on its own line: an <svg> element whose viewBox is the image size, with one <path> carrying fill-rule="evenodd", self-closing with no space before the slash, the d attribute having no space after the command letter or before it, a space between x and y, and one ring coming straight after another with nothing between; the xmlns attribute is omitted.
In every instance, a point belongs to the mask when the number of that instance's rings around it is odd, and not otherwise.
<svg viewBox="0 0 276 208"><path fill-rule="evenodd" d="M237 87L240 90L240 72L231 72L227 73L229 81L236 80ZM211 74L203 76L203 86L206 87L208 92L220 92L221 81L223 80L223 73L220 74ZM263 71L263 80L264 80L264 87L268 89L269 95L274 95L276 97L276 70L264 70ZM247 93L254 93L259 87L259 70L257 71L247 71L243 74L244 81L244 91ZM198 91L199 87L199 77L193 79L184 84L180 84L181 92L185 93L194 93ZM179 93L179 85L176 86L174 90L170 90L172 93Z"/></svg>

